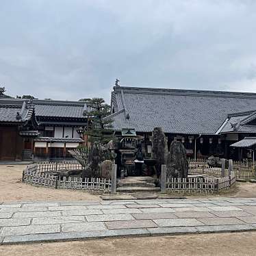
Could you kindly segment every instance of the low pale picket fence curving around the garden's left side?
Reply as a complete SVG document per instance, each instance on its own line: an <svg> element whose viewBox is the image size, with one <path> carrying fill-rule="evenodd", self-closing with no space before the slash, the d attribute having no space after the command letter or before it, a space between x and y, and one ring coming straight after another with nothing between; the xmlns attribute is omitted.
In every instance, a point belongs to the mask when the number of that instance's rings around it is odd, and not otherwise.
<svg viewBox="0 0 256 256"><path fill-rule="evenodd" d="M112 182L110 179L103 178L85 178L81 177L59 177L57 170L77 170L81 165L73 163L38 163L27 166L23 171L23 182L31 185L46 186L50 188L66 188L73 190L94 190L102 192L112 191ZM115 191L114 191L115 192Z"/></svg>

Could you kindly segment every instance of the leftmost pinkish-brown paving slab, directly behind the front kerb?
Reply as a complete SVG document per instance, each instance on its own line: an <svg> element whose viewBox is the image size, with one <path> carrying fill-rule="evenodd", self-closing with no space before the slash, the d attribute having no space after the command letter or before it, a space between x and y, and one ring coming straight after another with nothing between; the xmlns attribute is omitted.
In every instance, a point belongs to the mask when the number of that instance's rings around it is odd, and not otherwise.
<svg viewBox="0 0 256 256"><path fill-rule="evenodd" d="M107 229L140 229L147 227L157 227L152 220L125 220L105 222Z"/></svg>

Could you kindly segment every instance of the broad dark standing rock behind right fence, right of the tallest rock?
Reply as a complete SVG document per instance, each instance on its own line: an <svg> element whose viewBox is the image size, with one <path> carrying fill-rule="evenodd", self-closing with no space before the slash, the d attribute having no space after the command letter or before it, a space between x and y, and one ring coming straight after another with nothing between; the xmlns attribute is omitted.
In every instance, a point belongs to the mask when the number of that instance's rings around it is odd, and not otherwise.
<svg viewBox="0 0 256 256"><path fill-rule="evenodd" d="M188 177L188 160L183 144L179 141L172 141L170 152L167 157L166 176L174 178Z"/></svg>

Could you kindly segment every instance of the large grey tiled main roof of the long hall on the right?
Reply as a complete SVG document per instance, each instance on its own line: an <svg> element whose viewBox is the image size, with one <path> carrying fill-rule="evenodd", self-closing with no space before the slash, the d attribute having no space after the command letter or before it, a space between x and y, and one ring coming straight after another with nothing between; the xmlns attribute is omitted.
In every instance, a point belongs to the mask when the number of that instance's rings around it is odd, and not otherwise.
<svg viewBox="0 0 256 256"><path fill-rule="evenodd" d="M111 104L117 131L216 134L229 113L256 110L256 94L115 86Z"/></svg>

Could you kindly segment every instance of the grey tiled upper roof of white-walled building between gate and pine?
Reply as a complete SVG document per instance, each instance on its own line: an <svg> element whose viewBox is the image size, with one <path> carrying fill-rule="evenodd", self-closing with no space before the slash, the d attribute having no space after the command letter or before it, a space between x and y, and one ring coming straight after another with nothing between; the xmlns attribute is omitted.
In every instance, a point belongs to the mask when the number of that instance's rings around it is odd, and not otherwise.
<svg viewBox="0 0 256 256"><path fill-rule="evenodd" d="M81 101L34 100L36 116L85 118L86 103Z"/></svg>

